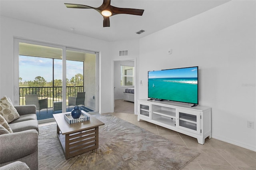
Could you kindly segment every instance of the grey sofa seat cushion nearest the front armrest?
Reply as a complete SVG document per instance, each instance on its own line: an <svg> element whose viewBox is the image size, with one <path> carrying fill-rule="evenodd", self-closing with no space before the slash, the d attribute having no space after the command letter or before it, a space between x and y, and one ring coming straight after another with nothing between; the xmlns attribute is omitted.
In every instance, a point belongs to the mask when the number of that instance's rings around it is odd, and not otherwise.
<svg viewBox="0 0 256 170"><path fill-rule="evenodd" d="M10 128L13 132L21 132L24 130L36 129L38 131L38 121L37 120L28 120L17 123L10 123Z"/></svg>

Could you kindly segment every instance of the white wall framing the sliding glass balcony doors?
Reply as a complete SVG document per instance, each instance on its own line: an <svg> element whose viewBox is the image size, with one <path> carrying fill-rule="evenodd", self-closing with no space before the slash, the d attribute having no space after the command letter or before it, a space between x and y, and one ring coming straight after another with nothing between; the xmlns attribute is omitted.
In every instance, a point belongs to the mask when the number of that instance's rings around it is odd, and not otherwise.
<svg viewBox="0 0 256 170"><path fill-rule="evenodd" d="M20 20L14 20L1 16L0 18L0 96L8 96L14 99L14 38L24 38L39 42L65 45L100 52L100 93L99 111L100 113L111 112L112 103L109 100L111 84L108 83L111 74L112 61L109 60L109 45L107 42L64 32ZM103 63L103 64L102 64ZM18 103L16 101L15 103Z"/></svg>

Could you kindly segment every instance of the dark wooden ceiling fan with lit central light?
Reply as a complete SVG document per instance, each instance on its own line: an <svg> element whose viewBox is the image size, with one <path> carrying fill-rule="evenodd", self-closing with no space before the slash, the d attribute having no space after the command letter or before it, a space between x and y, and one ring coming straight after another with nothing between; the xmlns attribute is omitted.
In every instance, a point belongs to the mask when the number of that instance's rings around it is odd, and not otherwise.
<svg viewBox="0 0 256 170"><path fill-rule="evenodd" d="M115 6L110 5L110 0L103 0L103 3L98 8L94 8L87 5L80 5L80 4L68 4L64 3L67 8L87 8L87 9L94 9L98 11L103 16L103 27L110 26L109 17L116 15L116 14L131 14L131 15L140 15L142 16L144 10L140 9L132 9L132 8L118 8Z"/></svg>

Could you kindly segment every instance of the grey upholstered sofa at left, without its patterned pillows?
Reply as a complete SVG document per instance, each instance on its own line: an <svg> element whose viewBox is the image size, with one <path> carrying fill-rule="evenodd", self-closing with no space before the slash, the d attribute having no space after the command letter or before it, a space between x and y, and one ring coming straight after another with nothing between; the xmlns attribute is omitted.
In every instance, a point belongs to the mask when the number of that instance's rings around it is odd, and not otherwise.
<svg viewBox="0 0 256 170"><path fill-rule="evenodd" d="M14 106L14 108L18 112L19 117L8 123L9 131L12 132L0 134L0 167L12 162L21 161L27 164L31 170L38 170L38 121L36 119L36 106L24 105ZM4 125L4 123L2 124Z"/></svg>

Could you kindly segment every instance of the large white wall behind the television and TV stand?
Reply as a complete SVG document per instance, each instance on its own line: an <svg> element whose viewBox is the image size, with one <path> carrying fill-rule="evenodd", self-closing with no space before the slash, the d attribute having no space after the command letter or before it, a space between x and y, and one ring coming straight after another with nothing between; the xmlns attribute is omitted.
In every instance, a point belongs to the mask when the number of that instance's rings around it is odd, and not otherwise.
<svg viewBox="0 0 256 170"><path fill-rule="evenodd" d="M256 150L255 7L231 1L140 39L138 98L147 98L147 71L198 65L199 104L212 107L212 137Z"/></svg>

